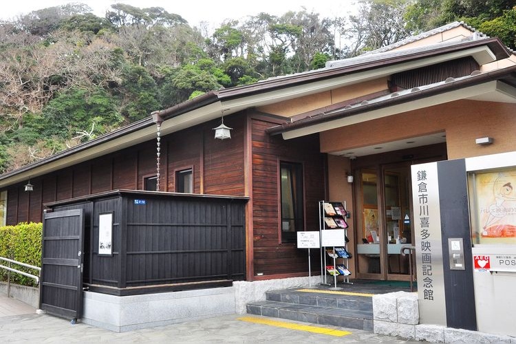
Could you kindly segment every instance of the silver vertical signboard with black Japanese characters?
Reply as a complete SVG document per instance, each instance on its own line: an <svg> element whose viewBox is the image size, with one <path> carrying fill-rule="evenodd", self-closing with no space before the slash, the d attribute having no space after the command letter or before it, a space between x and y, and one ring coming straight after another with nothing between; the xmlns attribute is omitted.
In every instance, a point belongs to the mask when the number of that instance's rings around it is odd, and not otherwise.
<svg viewBox="0 0 516 344"><path fill-rule="evenodd" d="M411 167L420 323L447 325L436 162Z"/></svg>

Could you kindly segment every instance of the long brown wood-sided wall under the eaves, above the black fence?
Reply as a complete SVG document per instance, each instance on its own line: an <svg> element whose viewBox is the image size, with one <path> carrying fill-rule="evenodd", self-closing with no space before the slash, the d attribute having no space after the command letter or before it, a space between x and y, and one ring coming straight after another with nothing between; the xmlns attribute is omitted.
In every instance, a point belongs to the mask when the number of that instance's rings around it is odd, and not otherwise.
<svg viewBox="0 0 516 344"><path fill-rule="evenodd" d="M160 191L175 191L175 171L193 168L194 193L244 196L245 116L227 116L224 122L234 128L230 140L215 140L220 120L162 137ZM144 176L155 173L156 141L149 140L31 180L30 197L45 204L113 189L142 190ZM41 222L42 208L29 204L26 183L8 189L8 224Z"/></svg>

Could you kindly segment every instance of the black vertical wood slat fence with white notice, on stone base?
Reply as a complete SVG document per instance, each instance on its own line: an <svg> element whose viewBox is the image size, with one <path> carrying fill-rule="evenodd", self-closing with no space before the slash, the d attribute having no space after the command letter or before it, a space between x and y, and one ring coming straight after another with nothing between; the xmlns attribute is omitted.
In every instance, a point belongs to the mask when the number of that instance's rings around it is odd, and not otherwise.
<svg viewBox="0 0 516 344"><path fill-rule="evenodd" d="M111 191L87 201L47 206L85 208L91 216L84 278L90 290L138 294L245 279L246 197ZM98 254L98 226L107 212L113 213L113 243L106 256Z"/></svg>

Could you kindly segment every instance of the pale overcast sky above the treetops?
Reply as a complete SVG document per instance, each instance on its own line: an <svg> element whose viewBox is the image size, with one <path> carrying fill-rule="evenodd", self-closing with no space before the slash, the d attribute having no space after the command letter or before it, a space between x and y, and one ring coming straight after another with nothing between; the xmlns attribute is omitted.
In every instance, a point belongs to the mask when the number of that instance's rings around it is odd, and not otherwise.
<svg viewBox="0 0 516 344"><path fill-rule="evenodd" d="M20 14L69 2L86 3L94 10L94 14L104 17L112 4L127 3L138 8L162 7L166 12L180 14L191 26L198 26L202 21L218 26L225 19L241 19L259 12L281 15L289 10L300 11L303 6L308 12L319 13L321 17L347 17L354 3L358 1L360 0L4 0L1 2L0 19L15 19Z"/></svg>

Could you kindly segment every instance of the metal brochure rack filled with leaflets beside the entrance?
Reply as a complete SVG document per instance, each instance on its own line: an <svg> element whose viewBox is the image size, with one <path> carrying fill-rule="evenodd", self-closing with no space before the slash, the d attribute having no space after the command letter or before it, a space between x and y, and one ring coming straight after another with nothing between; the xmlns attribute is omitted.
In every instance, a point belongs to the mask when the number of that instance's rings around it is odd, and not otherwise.
<svg viewBox="0 0 516 344"><path fill-rule="evenodd" d="M347 211L341 202L319 201L319 230L321 232L321 284L327 283L327 275L334 279L343 275L343 283L350 283L351 272L348 259L352 257L347 250Z"/></svg>

